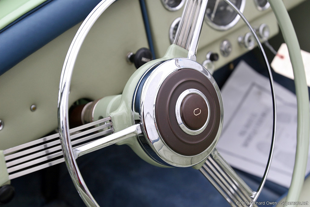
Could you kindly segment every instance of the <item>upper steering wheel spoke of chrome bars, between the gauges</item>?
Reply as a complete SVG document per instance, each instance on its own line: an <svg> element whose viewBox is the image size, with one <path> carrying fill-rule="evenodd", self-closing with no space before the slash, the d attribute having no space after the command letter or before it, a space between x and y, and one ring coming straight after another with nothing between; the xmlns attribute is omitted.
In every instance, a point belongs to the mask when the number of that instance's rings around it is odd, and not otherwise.
<svg viewBox="0 0 310 207"><path fill-rule="evenodd" d="M206 13L207 0L188 0L185 4L173 44L188 50L188 58L196 60L197 45Z"/></svg>

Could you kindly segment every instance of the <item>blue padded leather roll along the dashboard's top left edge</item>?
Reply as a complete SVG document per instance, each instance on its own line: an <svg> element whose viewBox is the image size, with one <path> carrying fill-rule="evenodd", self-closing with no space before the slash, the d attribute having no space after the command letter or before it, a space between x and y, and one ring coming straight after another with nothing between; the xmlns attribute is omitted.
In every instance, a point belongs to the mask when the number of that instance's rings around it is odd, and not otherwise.
<svg viewBox="0 0 310 207"><path fill-rule="evenodd" d="M100 0L51 0L0 30L0 75L84 20ZM15 23L15 24L14 24Z"/></svg>

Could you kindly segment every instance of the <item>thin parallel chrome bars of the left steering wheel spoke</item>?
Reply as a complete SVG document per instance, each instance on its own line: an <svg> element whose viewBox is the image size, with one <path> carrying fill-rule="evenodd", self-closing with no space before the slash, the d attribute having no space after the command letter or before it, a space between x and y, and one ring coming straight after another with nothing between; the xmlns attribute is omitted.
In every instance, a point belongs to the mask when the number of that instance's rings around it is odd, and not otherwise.
<svg viewBox="0 0 310 207"><path fill-rule="evenodd" d="M70 129L69 132L72 145L77 147L113 133L114 129L111 117L107 117ZM10 179L64 162L59 133L9 148L3 153Z"/></svg>

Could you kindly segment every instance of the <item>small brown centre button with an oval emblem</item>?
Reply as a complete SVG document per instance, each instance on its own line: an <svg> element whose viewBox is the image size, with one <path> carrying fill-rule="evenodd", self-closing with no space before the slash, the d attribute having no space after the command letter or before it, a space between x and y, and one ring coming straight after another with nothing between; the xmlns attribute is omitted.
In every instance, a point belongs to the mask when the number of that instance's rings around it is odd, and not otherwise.
<svg viewBox="0 0 310 207"><path fill-rule="evenodd" d="M189 94L181 104L181 118L183 123L191 130L203 127L208 118L206 101L198 94Z"/></svg>

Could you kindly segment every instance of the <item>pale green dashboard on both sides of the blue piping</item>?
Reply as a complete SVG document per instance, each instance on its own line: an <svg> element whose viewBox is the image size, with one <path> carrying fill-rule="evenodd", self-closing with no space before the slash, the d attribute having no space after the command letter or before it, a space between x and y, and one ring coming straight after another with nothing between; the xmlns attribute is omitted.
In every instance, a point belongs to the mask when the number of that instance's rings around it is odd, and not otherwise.
<svg viewBox="0 0 310 207"><path fill-rule="evenodd" d="M286 0L291 8L299 1ZM182 9L167 11L160 1L148 0L154 47L157 57L163 56L170 45L168 31L172 21L181 16ZM267 23L271 36L278 33L276 19L271 11L259 11L254 1L246 1L244 15L253 26ZM237 42L239 35L248 30L242 21L227 31L217 31L206 23L197 52L197 62L202 63L209 51L219 52L219 45L227 39L232 43L232 53L220 56L215 67L229 63L248 50ZM0 119L4 123L0 131L0 149L40 138L57 128L57 93L60 72L66 52L80 24L34 52L9 71L1 75ZM71 85L71 103L80 99L121 94L135 71L128 64L126 54L141 47L148 47L142 14L138 1L119 0L95 23L79 53ZM31 111L35 104L37 110Z"/></svg>

